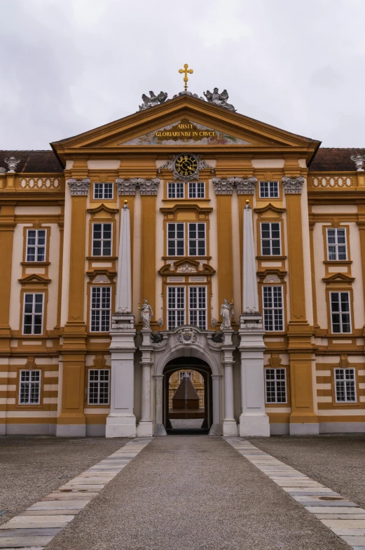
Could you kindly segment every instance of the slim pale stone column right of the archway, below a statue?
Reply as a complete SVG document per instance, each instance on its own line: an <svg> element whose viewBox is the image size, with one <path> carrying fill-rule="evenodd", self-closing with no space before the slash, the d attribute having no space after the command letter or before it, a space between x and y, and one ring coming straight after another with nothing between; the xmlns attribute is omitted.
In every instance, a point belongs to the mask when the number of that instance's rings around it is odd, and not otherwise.
<svg viewBox="0 0 365 550"><path fill-rule="evenodd" d="M233 330L224 328L223 333L223 368L224 368L224 419L223 436L237 436L237 422L234 415L233 396Z"/></svg>

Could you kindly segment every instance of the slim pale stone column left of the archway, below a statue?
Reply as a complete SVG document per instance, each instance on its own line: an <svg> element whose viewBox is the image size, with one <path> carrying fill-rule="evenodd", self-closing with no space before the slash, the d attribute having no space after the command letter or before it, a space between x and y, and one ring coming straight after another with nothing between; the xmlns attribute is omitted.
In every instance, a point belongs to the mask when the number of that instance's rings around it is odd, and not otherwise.
<svg viewBox="0 0 365 550"><path fill-rule="evenodd" d="M142 346L139 350L142 351L142 415L137 426L138 437L153 436L153 424L151 419L151 367L152 357L151 352L151 329L142 328Z"/></svg>

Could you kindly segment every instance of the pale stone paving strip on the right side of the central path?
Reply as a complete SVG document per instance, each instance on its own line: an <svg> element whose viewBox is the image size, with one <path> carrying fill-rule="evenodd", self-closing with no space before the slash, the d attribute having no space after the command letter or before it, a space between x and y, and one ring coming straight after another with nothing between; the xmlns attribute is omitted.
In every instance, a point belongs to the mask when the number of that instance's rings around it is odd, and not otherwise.
<svg viewBox="0 0 365 550"><path fill-rule="evenodd" d="M365 550L365 510L259 448L235 437L227 443L305 507L353 550Z"/></svg>

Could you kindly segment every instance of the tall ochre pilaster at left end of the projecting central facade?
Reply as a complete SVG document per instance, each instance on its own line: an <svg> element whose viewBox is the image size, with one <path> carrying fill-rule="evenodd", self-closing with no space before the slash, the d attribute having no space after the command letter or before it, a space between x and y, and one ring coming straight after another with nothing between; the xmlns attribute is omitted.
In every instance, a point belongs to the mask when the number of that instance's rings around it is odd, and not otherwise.
<svg viewBox="0 0 365 550"><path fill-rule="evenodd" d="M90 180L68 180L71 194L71 243L69 251L69 314L62 344L62 410L57 436L85 437L85 229ZM67 192L67 191L66 191Z"/></svg>

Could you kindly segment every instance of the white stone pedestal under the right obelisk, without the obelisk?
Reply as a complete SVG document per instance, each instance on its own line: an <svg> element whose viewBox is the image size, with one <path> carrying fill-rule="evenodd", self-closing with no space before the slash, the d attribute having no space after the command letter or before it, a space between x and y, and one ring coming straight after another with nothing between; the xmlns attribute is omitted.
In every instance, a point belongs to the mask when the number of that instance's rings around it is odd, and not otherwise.
<svg viewBox="0 0 365 550"><path fill-rule="evenodd" d="M242 403L240 437L270 436L263 380L264 330L258 312L240 316L239 335Z"/></svg>

